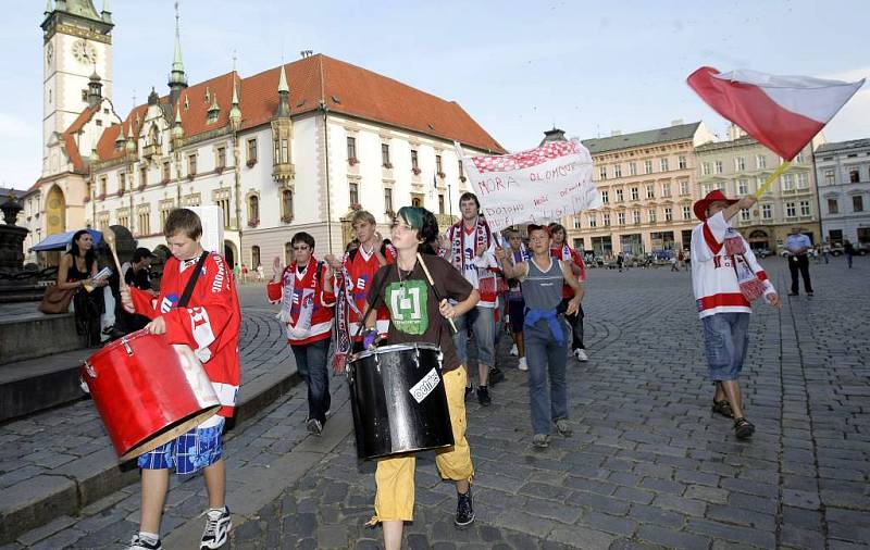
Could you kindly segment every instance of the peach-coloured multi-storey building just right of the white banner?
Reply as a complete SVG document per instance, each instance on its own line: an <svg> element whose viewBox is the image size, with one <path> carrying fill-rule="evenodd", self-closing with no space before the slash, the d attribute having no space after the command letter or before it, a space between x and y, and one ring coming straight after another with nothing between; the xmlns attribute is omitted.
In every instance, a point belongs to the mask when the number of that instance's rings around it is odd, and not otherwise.
<svg viewBox="0 0 870 550"><path fill-rule="evenodd" d="M638 255L688 248L695 184L695 149L716 139L704 123L586 139L593 180L602 208L566 220L569 242L595 255Z"/></svg>

